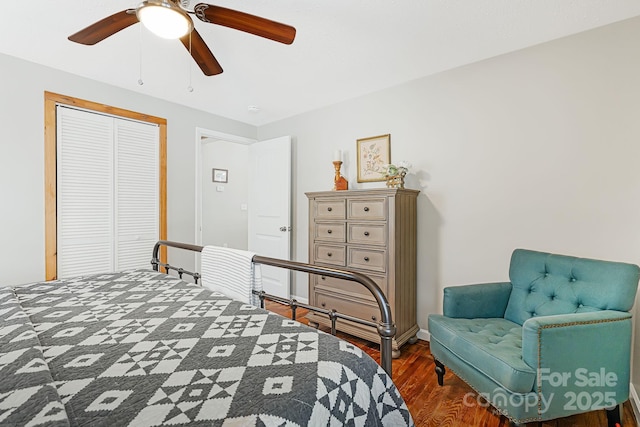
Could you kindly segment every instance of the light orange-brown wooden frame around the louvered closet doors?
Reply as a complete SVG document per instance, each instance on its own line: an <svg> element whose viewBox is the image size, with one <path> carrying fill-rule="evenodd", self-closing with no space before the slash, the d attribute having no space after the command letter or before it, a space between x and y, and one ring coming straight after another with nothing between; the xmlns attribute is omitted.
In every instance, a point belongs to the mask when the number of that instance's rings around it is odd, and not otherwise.
<svg viewBox="0 0 640 427"><path fill-rule="evenodd" d="M159 224L160 240L167 239L167 120L150 116L148 114L136 113L135 111L124 110L122 108L111 107L84 99L73 98L71 96L60 95L53 92L44 93L44 209L45 209L45 279L55 280L58 275L58 242L57 242L57 161L56 161L56 139L57 120L56 105L68 105L97 113L119 116L125 119L132 119L141 122L152 123L159 127L160 147L159 147ZM151 259L151 253L149 259ZM160 261L167 262L167 248L160 249Z"/></svg>

